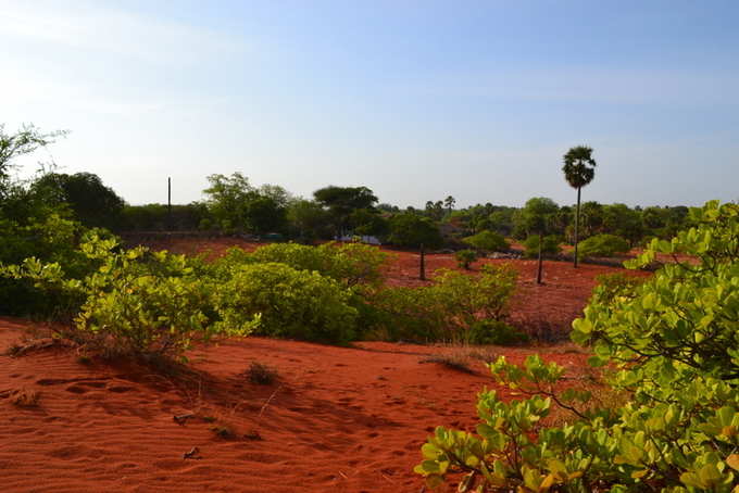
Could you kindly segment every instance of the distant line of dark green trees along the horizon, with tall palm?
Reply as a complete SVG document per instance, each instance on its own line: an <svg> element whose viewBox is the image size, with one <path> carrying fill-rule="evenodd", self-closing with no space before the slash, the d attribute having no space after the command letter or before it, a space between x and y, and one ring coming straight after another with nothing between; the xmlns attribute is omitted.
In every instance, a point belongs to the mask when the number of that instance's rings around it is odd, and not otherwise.
<svg viewBox="0 0 739 493"><path fill-rule="evenodd" d="M211 175L204 199L190 204L130 205L91 173L42 173L27 181L12 178L13 160L52 142L62 132L42 134L24 127L8 134L0 126L0 222L27 226L50 214L76 220L87 228L126 231L214 231L225 235L276 235L300 242L346 237L376 237L402 248L463 249L494 244L504 238L527 250L555 253L561 243L611 235L636 246L653 237L672 238L685 228L686 206L629 207L626 204L579 204L579 189L592 179L591 150L565 154L565 178L578 189L578 204L559 205L535 198L524 207L476 204L456 208L448 195L425 207L400 208L379 203L367 187L327 186L311 198L295 197L277 185L256 186L241 173ZM579 210L579 214L577 214ZM578 222L579 217L579 222ZM465 240L486 233L480 243ZM494 239L490 237L494 236ZM534 250L531 250L534 249ZM484 249L483 249L484 250Z"/></svg>

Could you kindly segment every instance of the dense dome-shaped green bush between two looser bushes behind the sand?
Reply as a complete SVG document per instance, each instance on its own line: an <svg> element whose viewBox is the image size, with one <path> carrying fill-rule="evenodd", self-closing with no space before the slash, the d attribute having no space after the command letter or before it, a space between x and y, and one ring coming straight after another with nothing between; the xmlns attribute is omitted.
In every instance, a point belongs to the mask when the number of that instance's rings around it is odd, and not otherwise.
<svg viewBox="0 0 739 493"><path fill-rule="evenodd" d="M348 289L316 271L274 262L242 265L216 289L217 326L240 329L260 316L261 334L346 343L355 333L350 298Z"/></svg>

